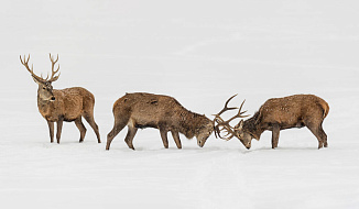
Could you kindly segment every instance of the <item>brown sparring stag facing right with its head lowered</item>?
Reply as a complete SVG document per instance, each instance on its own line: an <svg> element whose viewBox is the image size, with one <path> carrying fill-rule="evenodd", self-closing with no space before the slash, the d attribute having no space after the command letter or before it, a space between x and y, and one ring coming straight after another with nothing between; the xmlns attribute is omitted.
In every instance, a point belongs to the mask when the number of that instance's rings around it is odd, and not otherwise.
<svg viewBox="0 0 359 209"><path fill-rule="evenodd" d="M126 94L113 105L115 124L107 135L106 150L110 148L113 138L128 125L124 139L127 145L134 150L132 141L138 129L159 129L163 145L168 148L167 132L178 148L182 148L180 134L197 138L198 146L203 147L214 131L214 123L205 116L186 110L176 99L144 92Z"/></svg>

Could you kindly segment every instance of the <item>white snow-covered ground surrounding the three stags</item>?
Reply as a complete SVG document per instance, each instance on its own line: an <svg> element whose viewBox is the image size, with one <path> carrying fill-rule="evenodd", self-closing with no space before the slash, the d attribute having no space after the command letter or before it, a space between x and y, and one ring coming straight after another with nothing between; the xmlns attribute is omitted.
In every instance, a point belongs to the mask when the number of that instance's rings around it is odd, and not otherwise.
<svg viewBox="0 0 359 209"><path fill-rule="evenodd" d="M359 208L359 15L357 1L13 0L0 3L1 208ZM65 123L51 144L36 88L59 54L54 88L96 97L102 143L79 144ZM165 150L157 130L123 130L106 152L112 105L126 92L175 97L211 114L230 96L253 114L269 98L315 94L330 111L328 148L307 129L271 133L247 151L211 135L181 135Z"/></svg>

